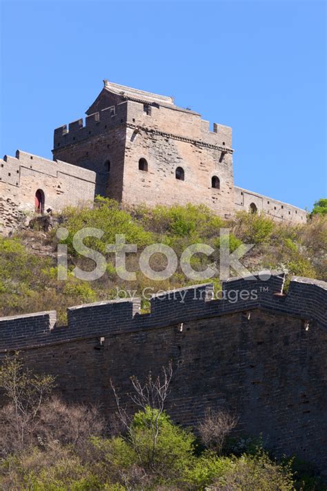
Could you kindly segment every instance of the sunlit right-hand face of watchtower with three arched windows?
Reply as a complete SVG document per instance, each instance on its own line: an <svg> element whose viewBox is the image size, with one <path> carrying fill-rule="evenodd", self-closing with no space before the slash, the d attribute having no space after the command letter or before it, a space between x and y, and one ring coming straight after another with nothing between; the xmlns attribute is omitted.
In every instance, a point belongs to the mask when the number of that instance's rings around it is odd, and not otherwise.
<svg viewBox="0 0 327 491"><path fill-rule="evenodd" d="M123 202L129 204L206 204L229 218L234 208L231 128L209 131L197 114L168 108L128 105ZM223 136L221 135L223 134ZM223 141L224 139L224 141ZM225 141L226 140L226 141ZM139 170L145 158L148 171ZM184 180L177 180L177 167ZM212 188L212 177L219 189Z"/></svg>

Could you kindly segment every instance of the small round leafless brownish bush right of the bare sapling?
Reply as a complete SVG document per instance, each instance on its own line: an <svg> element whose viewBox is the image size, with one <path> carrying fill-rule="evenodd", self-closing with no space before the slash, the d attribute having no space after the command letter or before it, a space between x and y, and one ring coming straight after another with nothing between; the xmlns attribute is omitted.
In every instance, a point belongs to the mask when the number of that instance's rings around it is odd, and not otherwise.
<svg viewBox="0 0 327 491"><path fill-rule="evenodd" d="M221 454L226 436L237 425L238 418L229 412L222 410L212 412L206 411L204 420L198 425L198 431L202 443L206 447L215 449Z"/></svg>

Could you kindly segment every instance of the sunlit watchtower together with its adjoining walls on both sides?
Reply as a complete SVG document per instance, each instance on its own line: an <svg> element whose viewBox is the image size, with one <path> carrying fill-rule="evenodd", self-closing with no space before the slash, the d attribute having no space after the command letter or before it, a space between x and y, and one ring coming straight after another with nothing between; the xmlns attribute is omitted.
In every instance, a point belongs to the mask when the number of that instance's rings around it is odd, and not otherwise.
<svg viewBox="0 0 327 491"><path fill-rule="evenodd" d="M223 218L236 211L304 223L306 211L234 185L232 128L201 119L172 97L104 81L86 122L54 130L54 161L17 151L0 160L0 231L19 213L78 206L95 195L128 205L206 204ZM69 164L68 164L69 162ZM0 211L4 210L2 205ZM38 210L40 211L40 210Z"/></svg>

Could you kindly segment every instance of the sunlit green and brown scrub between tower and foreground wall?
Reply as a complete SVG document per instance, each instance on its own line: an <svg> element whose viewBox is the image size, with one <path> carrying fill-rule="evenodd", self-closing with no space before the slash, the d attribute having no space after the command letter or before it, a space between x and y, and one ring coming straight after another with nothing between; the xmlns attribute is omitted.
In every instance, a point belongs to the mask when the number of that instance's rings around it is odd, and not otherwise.
<svg viewBox="0 0 327 491"><path fill-rule="evenodd" d="M230 251L242 242L255 244L242 260L250 271L282 269L289 276L327 279L327 215L326 200L319 200L308 223L290 226L276 223L266 216L239 213L235 220L222 220L206 206L156 206L148 209L139 206L125 209L114 200L98 198L93 209L68 208L60 217L60 225L49 233L22 231L11 238L0 238L0 316L25 314L32 311L54 310L59 322L65 322L66 308L84 302L110 300L123 296L123 290L148 293L192 285L181 270L167 280L150 280L139 269L139 256L143 249L158 242L177 253L190 244L205 243L215 249L209 256L196 254L191 265L195 270L219 265L219 229L230 229ZM317 211L318 210L318 211ZM57 280L56 248L58 227L69 231L66 242L69 251L68 280ZM86 282L75 278L75 266L83 270L94 269L95 263L78 254L72 244L75 232L84 227L103 231L101 238L86 238L84 243L106 256L106 273L99 280ZM137 244L137 253L127 254L128 271L135 271L136 279L122 280L115 269L115 257L106 253L106 244L115 243L115 235L124 234L126 242ZM44 253L48 251L48 256ZM152 268L160 271L166 267L166 259L160 254L151 258ZM230 271L231 276L235 272ZM221 287L219 274L213 281L217 290ZM143 298L143 308L148 298Z"/></svg>

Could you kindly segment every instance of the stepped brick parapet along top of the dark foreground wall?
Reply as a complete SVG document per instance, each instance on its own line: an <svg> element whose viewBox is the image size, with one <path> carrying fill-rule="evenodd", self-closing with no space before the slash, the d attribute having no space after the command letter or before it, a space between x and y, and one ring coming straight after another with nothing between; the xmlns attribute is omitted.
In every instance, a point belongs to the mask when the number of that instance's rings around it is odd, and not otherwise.
<svg viewBox="0 0 327 491"><path fill-rule="evenodd" d="M231 278L224 282L218 299L213 299L211 284L167 291L152 296L150 314L140 314L139 298L79 305L68 309L66 327L57 327L55 311L0 318L0 351L159 329L252 309L296 316L308 326L317 322L326 328L327 283L293 277L284 294L284 279L284 273L278 272L269 280L260 274L255 280Z"/></svg>

